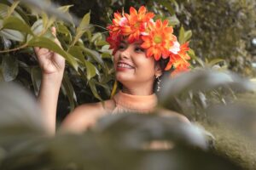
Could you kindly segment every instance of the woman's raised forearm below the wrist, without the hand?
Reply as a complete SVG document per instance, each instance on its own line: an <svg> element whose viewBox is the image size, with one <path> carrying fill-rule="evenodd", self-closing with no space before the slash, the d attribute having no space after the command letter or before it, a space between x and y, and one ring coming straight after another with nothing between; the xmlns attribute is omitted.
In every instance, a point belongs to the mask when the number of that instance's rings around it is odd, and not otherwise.
<svg viewBox="0 0 256 170"><path fill-rule="evenodd" d="M43 112L44 125L50 135L55 134L57 101L63 75L43 75L38 102Z"/></svg>

